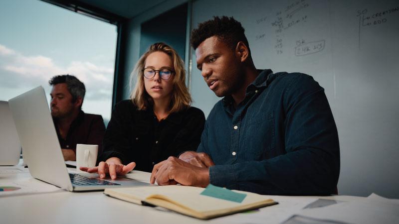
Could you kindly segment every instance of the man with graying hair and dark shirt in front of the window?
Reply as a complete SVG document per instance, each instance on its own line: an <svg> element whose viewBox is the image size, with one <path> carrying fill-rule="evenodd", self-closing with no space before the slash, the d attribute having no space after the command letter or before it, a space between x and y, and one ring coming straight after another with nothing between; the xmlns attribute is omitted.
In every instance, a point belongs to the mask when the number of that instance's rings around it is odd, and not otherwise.
<svg viewBox="0 0 399 224"><path fill-rule="evenodd" d="M51 116L64 159L76 160L76 144L98 145L100 155L105 125L101 115L82 111L84 84L72 75L54 76L48 83Z"/></svg>

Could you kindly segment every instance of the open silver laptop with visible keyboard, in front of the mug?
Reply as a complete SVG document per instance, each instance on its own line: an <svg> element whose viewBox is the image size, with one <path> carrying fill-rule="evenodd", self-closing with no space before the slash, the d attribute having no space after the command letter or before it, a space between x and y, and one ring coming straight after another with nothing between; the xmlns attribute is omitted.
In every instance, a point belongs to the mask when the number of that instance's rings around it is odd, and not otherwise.
<svg viewBox="0 0 399 224"><path fill-rule="evenodd" d="M68 173L43 87L8 101L16 131L32 177L68 191L149 186L127 178L100 179L98 174Z"/></svg>

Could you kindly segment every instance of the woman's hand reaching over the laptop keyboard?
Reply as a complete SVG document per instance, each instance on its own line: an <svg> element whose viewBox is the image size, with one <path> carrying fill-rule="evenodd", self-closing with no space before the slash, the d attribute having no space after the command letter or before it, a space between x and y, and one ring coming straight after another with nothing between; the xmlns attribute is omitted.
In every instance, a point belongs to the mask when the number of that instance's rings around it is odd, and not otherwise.
<svg viewBox="0 0 399 224"><path fill-rule="evenodd" d="M136 166L135 162L131 162L128 165L123 165L121 160L117 157L111 157L105 162L100 162L96 167L80 167L81 171L88 173L98 173L100 178L105 178L107 174L111 176L111 179L116 179L117 175L125 175L129 173Z"/></svg>

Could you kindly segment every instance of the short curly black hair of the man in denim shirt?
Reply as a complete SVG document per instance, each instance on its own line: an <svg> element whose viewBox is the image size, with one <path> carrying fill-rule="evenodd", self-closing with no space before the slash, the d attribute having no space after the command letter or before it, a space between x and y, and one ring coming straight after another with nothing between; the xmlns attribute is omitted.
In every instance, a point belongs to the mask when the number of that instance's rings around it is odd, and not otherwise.
<svg viewBox="0 0 399 224"><path fill-rule="evenodd" d="M249 49L244 31L245 29L241 23L233 17L213 16L213 19L202 22L197 29L193 29L190 42L193 48L197 49L205 39L217 36L232 49L235 49L239 41L242 41Z"/></svg>

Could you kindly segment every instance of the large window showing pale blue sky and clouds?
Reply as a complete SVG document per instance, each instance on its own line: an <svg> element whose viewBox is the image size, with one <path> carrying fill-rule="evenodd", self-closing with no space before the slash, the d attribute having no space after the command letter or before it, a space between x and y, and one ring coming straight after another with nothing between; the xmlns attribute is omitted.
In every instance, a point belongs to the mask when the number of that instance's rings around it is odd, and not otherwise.
<svg viewBox="0 0 399 224"><path fill-rule="evenodd" d="M83 111L111 117L115 25L38 0L2 0L0 100L39 85L47 100L54 75L76 76L86 86Z"/></svg>

